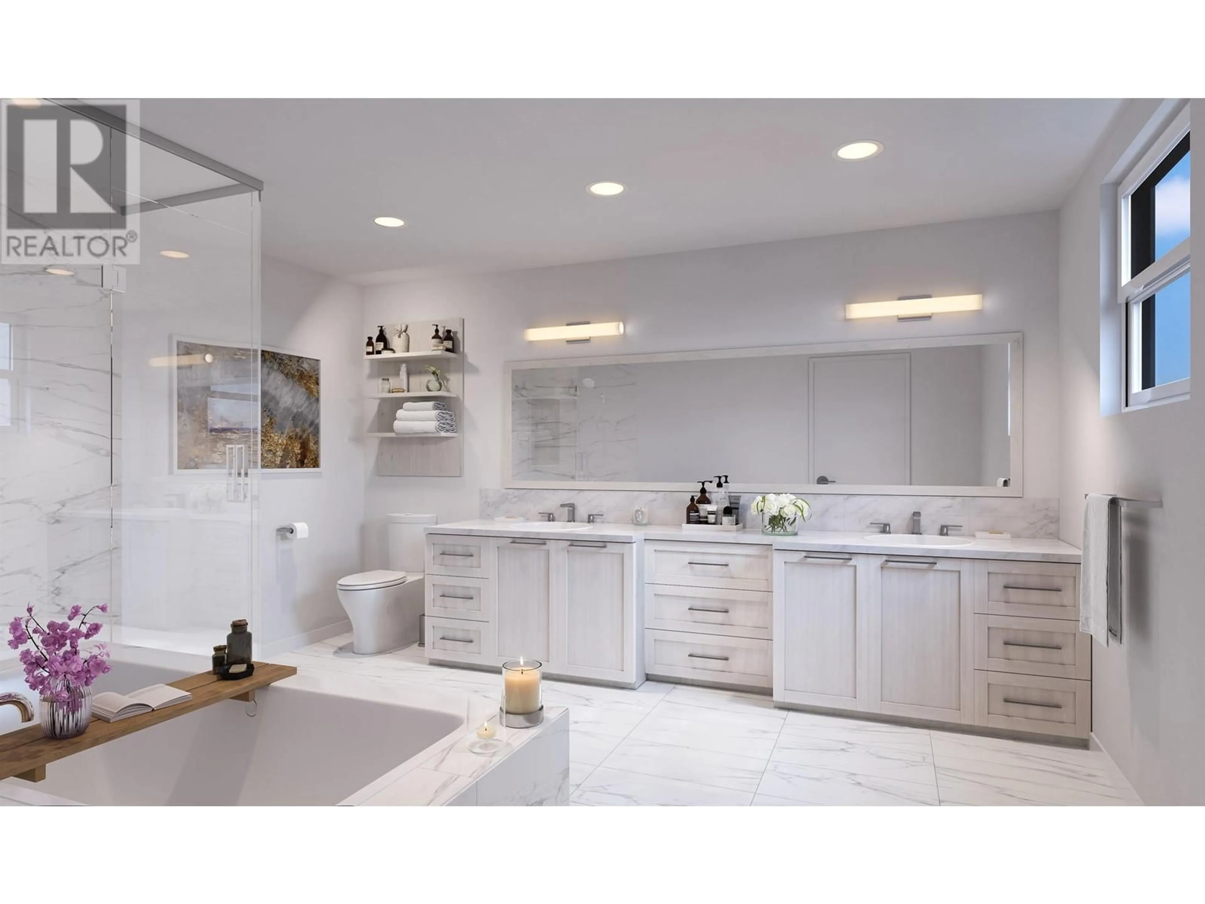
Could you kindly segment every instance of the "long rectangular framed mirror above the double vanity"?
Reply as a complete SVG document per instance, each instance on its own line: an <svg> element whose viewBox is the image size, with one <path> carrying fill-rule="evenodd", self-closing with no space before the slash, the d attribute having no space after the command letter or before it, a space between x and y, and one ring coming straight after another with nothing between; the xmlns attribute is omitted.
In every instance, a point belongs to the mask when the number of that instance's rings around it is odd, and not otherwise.
<svg viewBox="0 0 1205 904"><path fill-rule="evenodd" d="M505 366L512 488L1022 494L1022 336Z"/></svg>

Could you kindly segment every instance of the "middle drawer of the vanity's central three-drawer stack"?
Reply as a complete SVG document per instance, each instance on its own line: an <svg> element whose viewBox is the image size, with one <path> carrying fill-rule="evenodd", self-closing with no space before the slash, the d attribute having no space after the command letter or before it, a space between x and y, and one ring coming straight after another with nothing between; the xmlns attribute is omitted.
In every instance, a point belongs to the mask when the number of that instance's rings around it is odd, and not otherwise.
<svg viewBox="0 0 1205 904"><path fill-rule="evenodd" d="M645 627L769 640L774 594L645 585Z"/></svg>

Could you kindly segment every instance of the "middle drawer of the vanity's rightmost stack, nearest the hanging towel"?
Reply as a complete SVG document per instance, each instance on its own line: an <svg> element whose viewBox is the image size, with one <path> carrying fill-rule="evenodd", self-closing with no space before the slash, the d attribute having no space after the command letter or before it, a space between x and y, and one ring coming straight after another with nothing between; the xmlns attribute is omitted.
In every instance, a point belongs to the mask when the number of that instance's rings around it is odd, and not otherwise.
<svg viewBox="0 0 1205 904"><path fill-rule="evenodd" d="M1092 638L1078 622L976 615L975 668L1088 681Z"/></svg>

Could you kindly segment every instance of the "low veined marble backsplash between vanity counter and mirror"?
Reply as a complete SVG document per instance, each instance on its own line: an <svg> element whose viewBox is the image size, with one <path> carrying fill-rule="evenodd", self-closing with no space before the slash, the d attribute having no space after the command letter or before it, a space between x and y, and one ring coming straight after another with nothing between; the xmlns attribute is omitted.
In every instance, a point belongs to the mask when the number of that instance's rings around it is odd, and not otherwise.
<svg viewBox="0 0 1205 904"><path fill-rule="evenodd" d="M935 534L942 524L960 524L962 533L1004 530L1013 536L1058 539L1058 499L1016 499L1007 497L950 495L805 495L812 506L803 530L874 530L872 521L886 521L897 534L911 529L912 512L921 512L921 527ZM751 494L743 494L742 522L750 524ZM651 524L681 524L686 521L689 493L627 489L482 489L481 517L517 515L536 518L551 511L564 521L562 503L577 506L577 519L592 512L612 524L630 524L636 506L648 509Z"/></svg>

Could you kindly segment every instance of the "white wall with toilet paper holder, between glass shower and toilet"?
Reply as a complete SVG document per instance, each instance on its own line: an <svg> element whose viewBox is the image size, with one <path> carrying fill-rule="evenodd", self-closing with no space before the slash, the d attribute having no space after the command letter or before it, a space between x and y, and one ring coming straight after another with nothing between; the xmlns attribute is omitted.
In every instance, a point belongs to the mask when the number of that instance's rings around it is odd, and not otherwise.
<svg viewBox="0 0 1205 904"><path fill-rule="evenodd" d="M322 360L322 474L265 474L259 482L258 638L269 653L300 645L299 635L347 629L335 582L362 563L362 319L358 286L264 258L264 345ZM310 536L278 539L276 528L294 521L308 523Z"/></svg>

